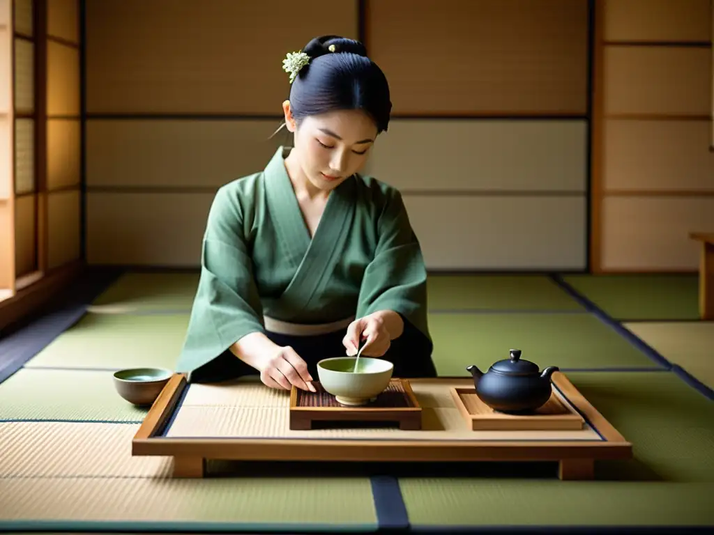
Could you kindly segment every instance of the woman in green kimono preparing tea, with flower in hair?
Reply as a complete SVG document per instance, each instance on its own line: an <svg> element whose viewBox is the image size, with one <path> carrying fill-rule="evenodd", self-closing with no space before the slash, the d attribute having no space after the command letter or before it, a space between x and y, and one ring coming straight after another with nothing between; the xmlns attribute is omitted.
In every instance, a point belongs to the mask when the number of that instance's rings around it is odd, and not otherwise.
<svg viewBox="0 0 714 535"><path fill-rule="evenodd" d="M319 360L364 342L362 355L391 360L395 377L433 377L420 245L398 190L358 174L387 130L386 78L338 36L283 68L293 148L216 193L177 370L313 390Z"/></svg>

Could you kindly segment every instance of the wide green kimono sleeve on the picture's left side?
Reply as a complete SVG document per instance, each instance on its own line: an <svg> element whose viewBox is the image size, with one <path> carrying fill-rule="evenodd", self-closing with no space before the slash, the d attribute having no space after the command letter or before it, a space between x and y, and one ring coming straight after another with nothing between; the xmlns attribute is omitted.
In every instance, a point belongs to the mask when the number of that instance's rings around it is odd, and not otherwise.
<svg viewBox="0 0 714 535"><path fill-rule="evenodd" d="M198 280L178 372L192 372L251 332L264 332L261 300L235 190L218 190L208 212ZM237 358L237 357L236 357Z"/></svg>

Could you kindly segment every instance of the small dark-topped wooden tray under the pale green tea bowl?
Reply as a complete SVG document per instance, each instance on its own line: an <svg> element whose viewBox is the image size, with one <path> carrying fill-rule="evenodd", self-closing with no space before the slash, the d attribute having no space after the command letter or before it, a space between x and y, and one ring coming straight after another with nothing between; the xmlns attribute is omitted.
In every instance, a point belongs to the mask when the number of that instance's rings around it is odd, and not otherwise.
<svg viewBox="0 0 714 535"><path fill-rule="evenodd" d="M407 379L392 379L377 398L360 407L345 407L317 381L317 392L293 387L290 394L290 429L312 429L314 422L394 422L399 429L421 429L421 407ZM362 426L361 426L362 427Z"/></svg>

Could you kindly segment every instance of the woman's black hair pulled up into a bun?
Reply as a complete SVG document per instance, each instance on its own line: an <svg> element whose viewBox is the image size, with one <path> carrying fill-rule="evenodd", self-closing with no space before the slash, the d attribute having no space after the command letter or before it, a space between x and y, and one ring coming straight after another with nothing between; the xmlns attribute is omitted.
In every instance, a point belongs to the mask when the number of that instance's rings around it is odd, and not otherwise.
<svg viewBox="0 0 714 535"><path fill-rule="evenodd" d="M358 109L375 121L377 133L387 130L392 109L389 84L363 44L328 35L312 39L302 51L310 62L290 87L293 118Z"/></svg>

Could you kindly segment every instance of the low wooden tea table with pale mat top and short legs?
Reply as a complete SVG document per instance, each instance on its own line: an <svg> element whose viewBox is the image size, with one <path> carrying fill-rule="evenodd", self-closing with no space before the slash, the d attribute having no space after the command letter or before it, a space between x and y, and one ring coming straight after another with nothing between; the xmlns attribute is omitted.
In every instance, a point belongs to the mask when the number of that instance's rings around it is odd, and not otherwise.
<svg viewBox="0 0 714 535"><path fill-rule="evenodd" d="M558 462L560 479L593 479L597 459L630 459L632 445L562 372L553 392L582 429L474 430L454 389L471 378L408 379L421 429L291 429L290 397L261 382L188 384L175 374L132 441L132 454L174 457L174 477L203 477L206 459L325 462Z"/></svg>

